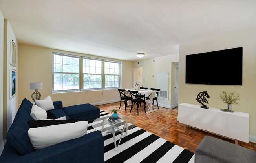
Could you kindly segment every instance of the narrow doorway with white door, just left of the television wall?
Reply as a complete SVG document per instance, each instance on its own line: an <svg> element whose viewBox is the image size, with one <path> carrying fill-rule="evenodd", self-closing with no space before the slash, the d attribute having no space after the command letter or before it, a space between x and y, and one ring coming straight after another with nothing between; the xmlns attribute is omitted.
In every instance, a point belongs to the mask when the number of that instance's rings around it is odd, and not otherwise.
<svg viewBox="0 0 256 163"><path fill-rule="evenodd" d="M179 62L172 62L171 90L171 108L175 108L179 105Z"/></svg>

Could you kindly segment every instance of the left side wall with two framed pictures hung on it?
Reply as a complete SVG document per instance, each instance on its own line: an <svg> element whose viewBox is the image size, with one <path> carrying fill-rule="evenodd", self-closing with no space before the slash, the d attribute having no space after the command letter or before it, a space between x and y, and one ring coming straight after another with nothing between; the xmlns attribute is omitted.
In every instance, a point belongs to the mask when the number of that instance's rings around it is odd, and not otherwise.
<svg viewBox="0 0 256 163"><path fill-rule="evenodd" d="M10 65L10 40L16 45L16 67ZM8 20L4 20L4 137L18 110L18 41ZM16 96L10 97L10 69L16 70Z"/></svg>

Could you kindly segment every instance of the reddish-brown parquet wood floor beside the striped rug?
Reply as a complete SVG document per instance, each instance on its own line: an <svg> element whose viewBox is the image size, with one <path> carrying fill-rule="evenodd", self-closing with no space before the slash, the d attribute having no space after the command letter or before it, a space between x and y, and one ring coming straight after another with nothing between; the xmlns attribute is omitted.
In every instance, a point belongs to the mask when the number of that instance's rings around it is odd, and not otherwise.
<svg viewBox="0 0 256 163"><path fill-rule="evenodd" d="M98 105L97 107L104 110L105 112L111 113L112 109L119 109L119 105L120 103L110 103ZM157 108L157 106L154 106L154 108ZM119 114L134 118L137 121L134 125L148 132L151 132L161 138L164 138L176 145L188 149L191 152L195 152L196 147L206 135L229 141L230 143L235 143L234 140L223 138L221 136L216 136L214 134L197 130L192 127L187 126L186 130L184 130L184 125L177 121L177 107L175 109L166 109L163 107L159 107L159 110L150 114L146 114L142 106L141 108L139 108L139 116L137 116L137 109L133 109L130 113L130 107L127 107L125 111L124 103L122 103ZM238 145L256 151L255 143L244 143L238 141Z"/></svg>

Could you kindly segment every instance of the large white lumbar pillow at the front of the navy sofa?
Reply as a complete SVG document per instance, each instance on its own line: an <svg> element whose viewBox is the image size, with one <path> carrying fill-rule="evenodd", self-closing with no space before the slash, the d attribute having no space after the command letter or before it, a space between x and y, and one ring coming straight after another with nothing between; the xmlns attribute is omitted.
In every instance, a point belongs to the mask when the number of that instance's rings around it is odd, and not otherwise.
<svg viewBox="0 0 256 163"><path fill-rule="evenodd" d="M35 149L44 149L71 139L80 138L87 133L88 121L30 128L28 136Z"/></svg>

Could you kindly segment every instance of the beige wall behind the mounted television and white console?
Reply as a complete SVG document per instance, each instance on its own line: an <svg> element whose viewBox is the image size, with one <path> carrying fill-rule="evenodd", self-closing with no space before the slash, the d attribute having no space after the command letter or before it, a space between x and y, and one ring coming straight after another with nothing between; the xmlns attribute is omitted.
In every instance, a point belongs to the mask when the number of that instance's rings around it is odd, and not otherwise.
<svg viewBox="0 0 256 163"><path fill-rule="evenodd" d="M256 31L254 29L252 31L248 30L219 36L209 36L207 39L195 40L179 45L179 104L192 103L198 105L196 101L198 92L208 91L210 95L210 99L208 100L209 106L224 108L225 104L219 100L221 91L237 92L240 94L241 100L239 101L239 105L233 106L233 109L235 111L249 113L249 134L251 135L251 141L253 137L256 138L255 36ZM243 86L185 84L186 55L234 47L243 47ZM221 58L219 59L221 60ZM230 58L230 62L232 63L232 58ZM227 121L227 123L232 122Z"/></svg>

